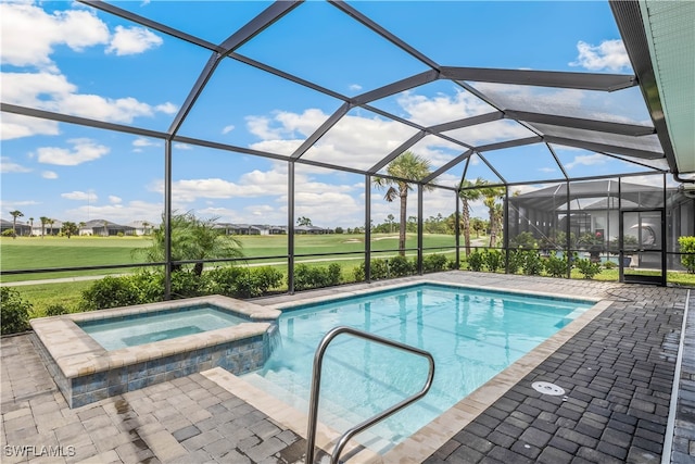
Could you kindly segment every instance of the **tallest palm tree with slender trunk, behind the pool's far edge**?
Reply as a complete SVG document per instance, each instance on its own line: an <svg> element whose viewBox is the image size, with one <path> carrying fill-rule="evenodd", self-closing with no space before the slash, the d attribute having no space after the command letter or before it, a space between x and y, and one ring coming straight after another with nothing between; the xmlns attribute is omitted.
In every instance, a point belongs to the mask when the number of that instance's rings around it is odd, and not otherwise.
<svg viewBox="0 0 695 464"><path fill-rule="evenodd" d="M407 222L408 190L410 181L419 181L430 174L430 163L412 151L406 151L387 166L387 174L395 178L375 177L378 188L389 187L383 198L391 202L401 199L401 227L399 230L399 253L405 255L405 227Z"/></svg>

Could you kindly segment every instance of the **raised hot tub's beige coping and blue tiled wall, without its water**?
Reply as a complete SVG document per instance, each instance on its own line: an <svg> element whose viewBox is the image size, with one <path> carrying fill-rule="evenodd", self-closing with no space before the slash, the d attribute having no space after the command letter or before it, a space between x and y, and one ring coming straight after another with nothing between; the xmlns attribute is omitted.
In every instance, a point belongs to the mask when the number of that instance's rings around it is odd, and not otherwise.
<svg viewBox="0 0 695 464"><path fill-rule="evenodd" d="M214 304L250 322L105 350L78 322L139 317L148 312ZM222 366L237 374L263 366L280 312L222 296L201 297L31 319L35 344L71 407Z"/></svg>

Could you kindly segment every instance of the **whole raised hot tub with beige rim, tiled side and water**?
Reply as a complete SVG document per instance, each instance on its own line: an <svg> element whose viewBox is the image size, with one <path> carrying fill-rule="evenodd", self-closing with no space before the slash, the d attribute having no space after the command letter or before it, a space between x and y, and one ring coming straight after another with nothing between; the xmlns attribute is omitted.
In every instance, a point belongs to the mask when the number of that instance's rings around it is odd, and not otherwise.
<svg viewBox="0 0 695 464"><path fill-rule="evenodd" d="M279 315L212 296L30 324L53 379L78 407L216 366L232 374L257 369L270 355Z"/></svg>

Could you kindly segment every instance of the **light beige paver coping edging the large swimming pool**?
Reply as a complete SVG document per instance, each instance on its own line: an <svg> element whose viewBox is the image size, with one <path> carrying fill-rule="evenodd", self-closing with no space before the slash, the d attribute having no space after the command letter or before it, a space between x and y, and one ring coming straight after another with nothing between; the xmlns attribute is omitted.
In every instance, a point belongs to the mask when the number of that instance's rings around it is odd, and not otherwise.
<svg viewBox="0 0 695 464"><path fill-rule="evenodd" d="M495 287L493 285L485 285L484 287L481 287L480 285L473 286L459 283L441 281L432 278L424 278L414 281L383 285L379 286L378 288L361 288L340 291L339 293L332 294L307 296L307 298L305 299L298 299L291 302L268 304L266 308L278 311L292 311L299 306L427 284L446 287L458 287L477 291L527 294L570 301L577 300L594 304L572 322L555 333L553 336L541 342L535 349L521 356L509 367L488 380L482 386L478 387L466 398L454 404L447 411L442 413L440 416L431 421L429 424L425 425L418 431L416 431L410 437L406 438L404 441L396 444L393 449L387 451L386 453L379 455L372 450L364 448L363 444L357 443L354 440L351 441L350 446L345 448L344 454L348 454L350 452L358 453L358 461L365 464L422 462L438 449L444 446L450 439L452 439L466 425L472 422L478 415L480 415L483 411L491 406L496 400L502 398L502 396L504 396L511 387L518 384L520 379L531 373L551 354L557 351L564 343L569 341L590 322L592 322L596 316L598 316L608 306L610 306L610 304L612 304L611 300L594 297L558 297L556 293L536 290L510 290L508 288ZM288 427L301 437L306 438L306 413L302 413L296 409L282 403L280 400L248 384L238 376L220 371L222 369L211 369L207 372L203 372L202 374L207 378L216 381L220 387L243 399L249 404L262 411L273 419L279 422L285 427ZM332 430L330 427L319 424L316 437L316 446L321 450L330 453L332 452L333 443L340 437L340 432ZM355 457L355 455L351 456L351 459Z"/></svg>

